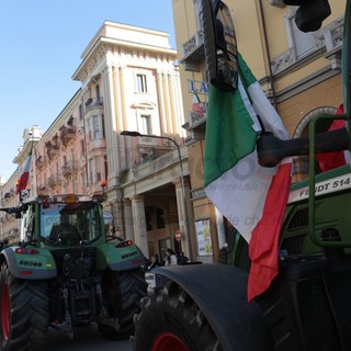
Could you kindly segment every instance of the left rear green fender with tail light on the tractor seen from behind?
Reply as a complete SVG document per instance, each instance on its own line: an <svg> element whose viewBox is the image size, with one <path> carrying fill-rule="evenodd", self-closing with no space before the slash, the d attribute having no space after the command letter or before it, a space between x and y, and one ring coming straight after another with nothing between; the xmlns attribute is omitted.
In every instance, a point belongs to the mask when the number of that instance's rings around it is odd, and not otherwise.
<svg viewBox="0 0 351 351"><path fill-rule="evenodd" d="M52 256L49 256L50 259L48 260L47 257L38 253L35 256L35 260L23 260L22 262L18 260L14 252L15 248L18 247L5 248L0 254L0 265L7 262L12 276L26 280L43 280L57 275L56 264Z"/></svg>

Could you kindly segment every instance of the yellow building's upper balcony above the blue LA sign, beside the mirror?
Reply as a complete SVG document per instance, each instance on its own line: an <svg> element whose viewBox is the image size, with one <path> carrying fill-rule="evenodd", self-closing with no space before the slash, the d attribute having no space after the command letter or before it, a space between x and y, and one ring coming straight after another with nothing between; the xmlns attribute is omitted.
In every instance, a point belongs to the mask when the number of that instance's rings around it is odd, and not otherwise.
<svg viewBox="0 0 351 351"><path fill-rule="evenodd" d="M183 57L180 63L188 71L200 71L200 66L204 61L204 36L200 30L194 36L182 45Z"/></svg>

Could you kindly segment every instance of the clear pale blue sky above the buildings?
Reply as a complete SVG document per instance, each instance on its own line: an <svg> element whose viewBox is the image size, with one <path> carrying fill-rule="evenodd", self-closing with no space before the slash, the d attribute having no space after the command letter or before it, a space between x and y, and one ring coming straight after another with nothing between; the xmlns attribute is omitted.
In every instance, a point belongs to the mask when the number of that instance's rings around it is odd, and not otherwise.
<svg viewBox="0 0 351 351"><path fill-rule="evenodd" d="M172 0L11 0L0 11L0 177L9 179L26 127L45 132L80 88L71 79L104 21L170 34Z"/></svg>

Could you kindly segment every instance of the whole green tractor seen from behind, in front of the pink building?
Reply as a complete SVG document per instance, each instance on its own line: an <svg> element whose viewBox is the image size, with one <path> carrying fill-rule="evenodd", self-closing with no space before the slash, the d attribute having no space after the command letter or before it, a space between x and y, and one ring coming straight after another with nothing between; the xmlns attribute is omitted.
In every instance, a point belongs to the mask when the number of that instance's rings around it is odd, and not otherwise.
<svg viewBox="0 0 351 351"><path fill-rule="evenodd" d="M0 253L0 349L47 350L49 327L73 338L91 322L106 338L127 338L146 295L144 256L106 234L103 196L21 197L1 208L21 218L23 240Z"/></svg>

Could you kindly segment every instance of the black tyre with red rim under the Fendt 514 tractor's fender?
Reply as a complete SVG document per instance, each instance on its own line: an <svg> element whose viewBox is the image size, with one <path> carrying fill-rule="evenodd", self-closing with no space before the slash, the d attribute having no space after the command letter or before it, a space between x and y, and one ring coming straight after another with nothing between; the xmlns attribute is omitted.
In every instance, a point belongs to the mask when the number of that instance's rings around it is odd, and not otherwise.
<svg viewBox="0 0 351 351"><path fill-rule="evenodd" d="M144 297L134 321L134 351L223 351L199 306L176 283Z"/></svg>

